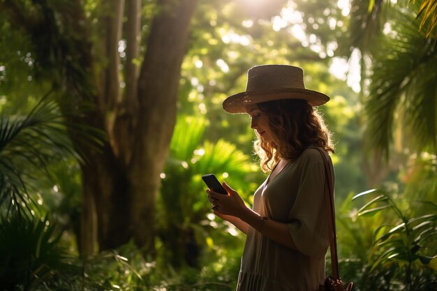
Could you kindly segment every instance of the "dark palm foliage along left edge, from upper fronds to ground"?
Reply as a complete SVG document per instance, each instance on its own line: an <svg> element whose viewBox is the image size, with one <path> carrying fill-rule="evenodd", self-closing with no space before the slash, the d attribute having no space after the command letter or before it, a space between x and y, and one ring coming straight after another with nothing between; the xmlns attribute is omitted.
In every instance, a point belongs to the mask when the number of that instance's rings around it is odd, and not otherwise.
<svg viewBox="0 0 437 291"><path fill-rule="evenodd" d="M77 130L77 137L84 142L99 142L100 135L90 136L88 126L72 124L71 130ZM40 218L53 210L42 209L40 204L46 193L50 200L50 194L57 192L51 190L57 188L51 180L52 170L62 157L80 160L53 100L46 96L24 117L1 116L0 285L4 290L38 290L62 272L74 269L66 262L67 251L60 242L61 233L55 231L54 220Z"/></svg>

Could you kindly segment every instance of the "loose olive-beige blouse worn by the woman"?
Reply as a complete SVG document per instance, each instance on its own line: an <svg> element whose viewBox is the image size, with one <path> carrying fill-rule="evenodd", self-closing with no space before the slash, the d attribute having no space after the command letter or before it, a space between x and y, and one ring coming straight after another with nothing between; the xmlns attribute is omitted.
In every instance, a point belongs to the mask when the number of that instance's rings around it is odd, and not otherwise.
<svg viewBox="0 0 437 291"><path fill-rule="evenodd" d="M332 161L326 154L332 173ZM308 148L253 196L253 210L287 223L297 251L249 227L237 291L315 291L325 279L329 246L325 206L325 165Z"/></svg>

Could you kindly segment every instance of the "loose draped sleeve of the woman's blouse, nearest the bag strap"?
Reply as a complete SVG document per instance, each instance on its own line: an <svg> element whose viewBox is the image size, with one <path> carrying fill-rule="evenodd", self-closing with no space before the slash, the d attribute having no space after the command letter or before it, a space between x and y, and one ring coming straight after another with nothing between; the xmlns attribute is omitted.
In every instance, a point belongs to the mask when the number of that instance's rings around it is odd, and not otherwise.
<svg viewBox="0 0 437 291"><path fill-rule="evenodd" d="M309 256L325 255L329 246L325 204L325 165L316 149L302 161L302 177L288 216L288 230L297 249ZM330 161L330 159L329 159Z"/></svg>

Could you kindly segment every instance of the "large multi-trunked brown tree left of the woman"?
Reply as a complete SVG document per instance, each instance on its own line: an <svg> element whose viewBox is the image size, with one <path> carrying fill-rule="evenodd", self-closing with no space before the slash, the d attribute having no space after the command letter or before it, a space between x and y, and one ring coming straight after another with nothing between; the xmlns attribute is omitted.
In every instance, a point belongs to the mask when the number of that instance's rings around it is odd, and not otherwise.
<svg viewBox="0 0 437 291"><path fill-rule="evenodd" d="M38 80L49 80L63 93L61 110L75 112L75 123L107 133L99 151L71 136L86 157L81 165L84 255L94 253L96 245L114 248L132 237L145 253L154 251L159 174L175 125L195 3L0 1L2 21L26 33L34 46ZM142 20L142 10L149 18ZM91 106L83 110L82 105Z"/></svg>

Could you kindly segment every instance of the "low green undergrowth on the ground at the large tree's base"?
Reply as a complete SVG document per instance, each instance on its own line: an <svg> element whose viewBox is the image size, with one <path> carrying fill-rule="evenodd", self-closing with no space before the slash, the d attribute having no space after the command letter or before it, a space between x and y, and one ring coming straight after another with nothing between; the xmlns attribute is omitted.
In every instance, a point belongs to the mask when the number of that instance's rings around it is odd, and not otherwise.
<svg viewBox="0 0 437 291"><path fill-rule="evenodd" d="M232 258L202 261L201 268L175 270L145 259L131 241L86 260L69 258L68 266L35 290L231 291L235 290L239 252L235 251Z"/></svg>

